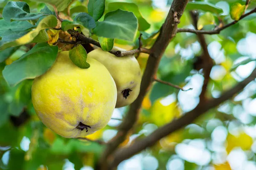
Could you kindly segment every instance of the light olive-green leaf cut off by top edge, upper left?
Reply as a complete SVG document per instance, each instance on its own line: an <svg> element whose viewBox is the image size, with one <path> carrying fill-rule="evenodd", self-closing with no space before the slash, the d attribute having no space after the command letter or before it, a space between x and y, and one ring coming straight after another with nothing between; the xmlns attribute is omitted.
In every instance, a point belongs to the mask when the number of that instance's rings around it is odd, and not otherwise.
<svg viewBox="0 0 256 170"><path fill-rule="evenodd" d="M47 3L47 7L53 11L52 6L56 6L59 12L64 11L72 0L30 0L34 2Z"/></svg>

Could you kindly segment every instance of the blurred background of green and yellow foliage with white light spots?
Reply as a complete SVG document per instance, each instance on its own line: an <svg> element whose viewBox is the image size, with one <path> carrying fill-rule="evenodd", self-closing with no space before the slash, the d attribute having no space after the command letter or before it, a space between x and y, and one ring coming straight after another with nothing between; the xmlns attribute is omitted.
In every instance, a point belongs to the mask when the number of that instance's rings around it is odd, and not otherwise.
<svg viewBox="0 0 256 170"><path fill-rule="evenodd" d="M0 0L0 13L9 0ZM43 3L30 2L34 12L44 8ZM245 0L205 0L221 8L221 14L211 13L204 29L233 20L230 6L244 4ZM135 3L150 24L143 31L143 45L150 48L169 11L172 0L106 0L109 3ZM204 2L204 1L202 1ZM87 0L76 0L71 6L86 11ZM256 7L252 0L248 11ZM73 9L73 10L72 10ZM207 9L200 9L203 15ZM1 17L1 14L0 14ZM178 28L194 28L189 11L185 10ZM147 34L148 33L148 34ZM237 82L248 77L256 67L256 14L244 18L220 34L205 35L207 48L215 62L210 74L207 96L217 98ZM138 44L116 40L115 45L130 50ZM0 61L0 70L26 53L21 47L9 59ZM170 42L160 62L157 77L182 86L180 91L155 82L143 101L143 109L134 130L128 134L124 147L134 139L148 136L158 127L182 116L198 105L204 77L200 69L201 46L197 35L178 33ZM1 57L0 57L1 58ZM142 71L148 54L140 54ZM31 102L32 80L25 80L10 88L0 75L0 169L3 170L93 170L104 144L64 139L45 127L35 114ZM118 170L256 170L256 82L250 82L241 93L222 105L211 109L181 130L161 139L153 147L123 161ZM127 107L115 109L113 119L104 129L88 136L91 140L108 142L117 133Z"/></svg>

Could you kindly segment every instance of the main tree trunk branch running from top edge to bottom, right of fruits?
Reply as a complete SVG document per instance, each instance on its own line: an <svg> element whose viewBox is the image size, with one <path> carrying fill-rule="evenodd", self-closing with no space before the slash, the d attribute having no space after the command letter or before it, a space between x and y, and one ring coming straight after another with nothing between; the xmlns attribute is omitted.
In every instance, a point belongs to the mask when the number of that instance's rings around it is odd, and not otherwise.
<svg viewBox="0 0 256 170"><path fill-rule="evenodd" d="M111 140L111 142L108 142L107 148L105 152L102 154L99 165L101 166L100 168L102 170L116 167L117 162L111 163L111 159L113 158L115 160L117 158L116 156L112 157L111 155L119 146L119 144L125 140L126 134L128 133L128 131L131 130L131 128L137 121L137 117L138 114L140 113L140 108L143 99L152 85L152 78L157 72L160 59L163 56L163 53L166 50L167 45L176 34L178 24L177 21L180 20L180 17L183 14L183 11L188 1L189 0L173 0L172 6L169 10L169 14L160 30L160 34L151 48L151 54L148 57L147 65L142 77L140 94L137 97L137 99L130 105L129 111L124 121L119 126L118 133ZM111 167L108 166L109 164L111 164Z"/></svg>

